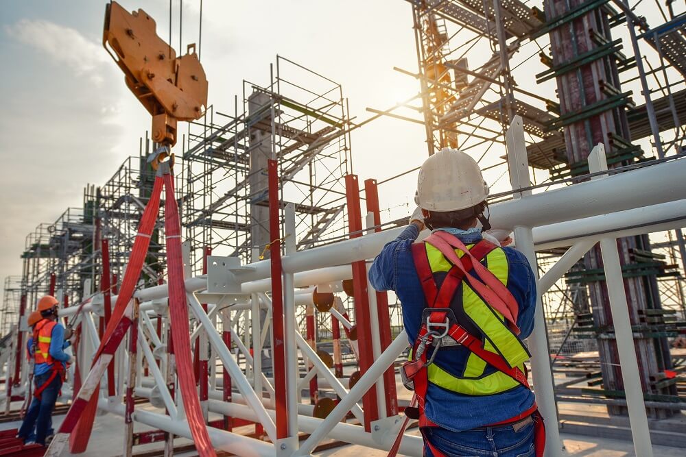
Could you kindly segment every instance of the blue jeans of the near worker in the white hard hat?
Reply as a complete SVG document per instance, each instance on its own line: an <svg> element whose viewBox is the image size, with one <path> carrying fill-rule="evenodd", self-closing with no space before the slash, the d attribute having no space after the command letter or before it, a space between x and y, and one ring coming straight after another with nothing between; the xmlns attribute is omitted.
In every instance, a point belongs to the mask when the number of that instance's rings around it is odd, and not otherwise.
<svg viewBox="0 0 686 457"><path fill-rule="evenodd" d="M447 457L533 457L534 423L514 431L512 425L451 432L445 428L426 429L426 438ZM428 457L435 457L425 447Z"/></svg>

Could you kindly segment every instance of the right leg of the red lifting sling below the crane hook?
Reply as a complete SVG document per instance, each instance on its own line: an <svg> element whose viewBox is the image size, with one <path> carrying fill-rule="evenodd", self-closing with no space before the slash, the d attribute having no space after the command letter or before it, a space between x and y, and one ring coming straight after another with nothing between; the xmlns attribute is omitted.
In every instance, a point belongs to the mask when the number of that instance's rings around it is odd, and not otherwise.
<svg viewBox="0 0 686 457"><path fill-rule="evenodd" d="M174 338L176 375L178 376L183 407L186 411L188 426L193 436L198 454L202 457L215 456L205 425L200 400L196 391L191 358L191 341L188 328L188 304L183 277L183 257L181 254L181 224L178 206L174 196L174 180L171 173L164 175L165 181L165 234L167 236L167 271L169 275L169 317L171 335Z"/></svg>

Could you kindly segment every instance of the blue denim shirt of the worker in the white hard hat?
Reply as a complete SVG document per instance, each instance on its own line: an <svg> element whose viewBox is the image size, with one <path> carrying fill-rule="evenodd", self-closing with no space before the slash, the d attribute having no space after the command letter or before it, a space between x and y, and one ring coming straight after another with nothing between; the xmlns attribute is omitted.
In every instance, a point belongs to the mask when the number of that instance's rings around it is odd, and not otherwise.
<svg viewBox="0 0 686 457"><path fill-rule="evenodd" d="M369 271L369 281L377 291L394 291L401 301L403 325L411 344L414 344L421 327L421 315L426 306L410 248L418 236L418 228L410 224L398 238L383 247ZM480 233L463 233L458 234L458 238L468 245L476 243L482 236ZM503 250L508 260L506 286L519 304L519 337L526 338L534 328L534 273L524 254L511 247L504 247ZM462 346L446 347L440 349L434 362L445 371L460 375L469 354L469 349ZM493 371L495 368L490 366L486 369L486 373ZM462 432L510 419L530 408L533 403L534 394L524 386L496 395L473 396L429 384L425 414L442 428Z"/></svg>

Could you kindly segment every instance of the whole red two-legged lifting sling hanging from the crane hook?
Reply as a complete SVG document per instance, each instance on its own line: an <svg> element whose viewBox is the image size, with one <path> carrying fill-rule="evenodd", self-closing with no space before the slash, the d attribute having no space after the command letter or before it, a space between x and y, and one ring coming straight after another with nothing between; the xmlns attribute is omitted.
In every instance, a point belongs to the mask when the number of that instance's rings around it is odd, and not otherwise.
<svg viewBox="0 0 686 457"><path fill-rule="evenodd" d="M171 158L169 162L171 162ZM58 434L50 443L46 456L58 456L70 435L72 448L85 449L85 444L88 443L97 410L99 380L113 359L115 351L123 341L128 328L132 325L130 302L143 269L145 256L147 256L150 236L157 220L163 186L165 187L165 234L167 236L167 268L169 271L169 314L171 316L171 334L174 340L176 366L178 367L177 375L188 425L198 454L202 457L215 456L202 410L200 410L196 382L193 377L178 206L174 196L171 166L167 166L167 163L159 164L150 200L148 200L143 211L139 233L134 240L132 254L126 267L126 273L124 273L119 295L117 295L117 303L93 358L91 371L79 389L78 395L75 396L67 416L64 417L64 421L60 425Z"/></svg>

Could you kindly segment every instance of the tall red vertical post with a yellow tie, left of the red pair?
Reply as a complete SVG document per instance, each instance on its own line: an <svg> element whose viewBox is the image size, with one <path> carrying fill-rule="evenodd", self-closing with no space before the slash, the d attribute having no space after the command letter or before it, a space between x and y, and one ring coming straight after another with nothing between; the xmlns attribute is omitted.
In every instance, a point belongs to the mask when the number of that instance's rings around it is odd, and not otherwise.
<svg viewBox="0 0 686 457"><path fill-rule="evenodd" d="M279 230L279 175L276 160L267 161L269 183L270 261L272 267L272 334L274 335L274 393L276 438L288 436L286 410L286 359L283 344L283 288L281 284L281 230Z"/></svg>

